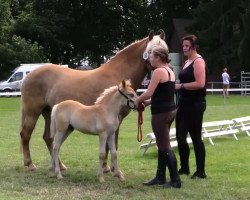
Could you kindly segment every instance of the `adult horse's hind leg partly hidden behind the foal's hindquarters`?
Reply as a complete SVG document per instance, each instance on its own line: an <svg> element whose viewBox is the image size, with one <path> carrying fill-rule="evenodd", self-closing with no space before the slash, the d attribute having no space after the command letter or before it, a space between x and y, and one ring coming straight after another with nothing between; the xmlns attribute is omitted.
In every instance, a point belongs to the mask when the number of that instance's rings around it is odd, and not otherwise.
<svg viewBox="0 0 250 200"><path fill-rule="evenodd" d="M47 148L49 150L49 153L51 155L52 149L53 149L53 138L50 137L51 109L47 107L46 109L44 109L42 115L45 120L43 140L45 141ZM60 160L59 160L59 165L60 165L61 170L67 169L67 167Z"/></svg>

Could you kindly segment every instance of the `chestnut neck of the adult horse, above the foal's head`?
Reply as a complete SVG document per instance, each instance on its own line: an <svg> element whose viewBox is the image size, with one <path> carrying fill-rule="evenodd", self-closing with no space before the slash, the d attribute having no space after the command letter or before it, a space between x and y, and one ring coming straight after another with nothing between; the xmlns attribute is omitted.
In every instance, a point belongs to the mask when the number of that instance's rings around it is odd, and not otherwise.
<svg viewBox="0 0 250 200"><path fill-rule="evenodd" d="M146 48L146 40L135 42L105 63L100 70L106 71L117 82L130 79L134 89L139 88L146 75L146 62L143 60L143 52Z"/></svg>

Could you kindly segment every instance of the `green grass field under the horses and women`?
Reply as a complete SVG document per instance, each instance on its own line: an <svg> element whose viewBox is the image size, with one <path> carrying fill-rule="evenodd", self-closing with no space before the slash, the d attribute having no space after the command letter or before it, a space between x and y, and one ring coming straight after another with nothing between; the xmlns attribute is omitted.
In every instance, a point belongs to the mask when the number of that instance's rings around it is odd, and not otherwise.
<svg viewBox="0 0 250 200"><path fill-rule="evenodd" d="M250 115L250 97L232 95L224 105L222 96L209 95L204 121L232 119ZM145 156L136 140L137 113L131 112L120 128L118 162L126 181L105 174L105 183L96 178L98 137L74 132L62 145L61 159L68 170L64 179L48 177L50 156L42 139L43 120L39 119L32 135L30 149L36 172L23 167L19 153L19 98L0 98L0 200L2 199L250 199L250 137L239 133L214 139L206 145L206 180L181 176L181 189L145 187L142 182L153 178L156 171L156 148ZM143 113L143 137L151 132L149 109ZM145 142L145 141L142 141ZM178 151L175 149L176 156ZM195 170L191 148L191 173ZM167 175L168 178L168 175Z"/></svg>

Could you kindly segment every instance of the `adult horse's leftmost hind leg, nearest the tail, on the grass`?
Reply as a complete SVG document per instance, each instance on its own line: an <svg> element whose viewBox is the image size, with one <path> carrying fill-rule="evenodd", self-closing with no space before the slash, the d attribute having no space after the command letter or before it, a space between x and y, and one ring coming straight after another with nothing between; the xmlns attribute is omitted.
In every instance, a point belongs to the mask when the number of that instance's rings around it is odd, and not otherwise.
<svg viewBox="0 0 250 200"><path fill-rule="evenodd" d="M35 128L37 119L38 116L26 115L23 119L20 132L24 166L27 166L28 170L30 171L36 170L36 166L32 163L32 159L30 156L29 141L31 138L32 131Z"/></svg>

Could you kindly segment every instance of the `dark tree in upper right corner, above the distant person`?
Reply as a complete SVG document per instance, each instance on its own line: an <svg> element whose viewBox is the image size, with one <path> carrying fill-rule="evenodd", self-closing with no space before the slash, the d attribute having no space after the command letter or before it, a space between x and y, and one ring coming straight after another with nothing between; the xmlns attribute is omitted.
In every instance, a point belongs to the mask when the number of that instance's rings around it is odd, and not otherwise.
<svg viewBox="0 0 250 200"><path fill-rule="evenodd" d="M194 24L189 30L200 38L201 51L206 57L210 72L221 71L224 66L229 66L231 71L239 71L241 63L249 62L244 59L245 42L249 38L246 30L250 25L247 2L248 0L202 0L193 9Z"/></svg>

